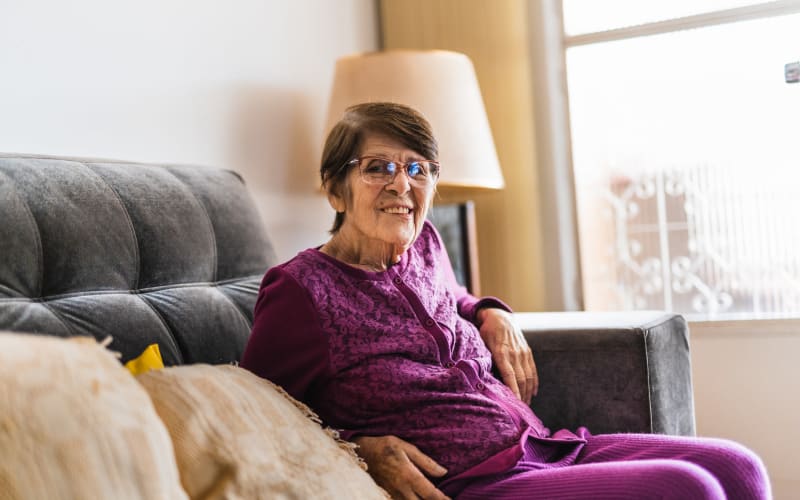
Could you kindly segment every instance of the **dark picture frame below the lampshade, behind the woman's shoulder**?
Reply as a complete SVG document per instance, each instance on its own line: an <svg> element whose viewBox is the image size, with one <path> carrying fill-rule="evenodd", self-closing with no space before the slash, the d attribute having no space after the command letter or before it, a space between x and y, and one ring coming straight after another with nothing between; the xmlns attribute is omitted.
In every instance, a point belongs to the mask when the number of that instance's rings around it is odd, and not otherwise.
<svg viewBox="0 0 800 500"><path fill-rule="evenodd" d="M456 281L471 294L480 296L475 204L471 201L434 204L428 219L444 240Z"/></svg>

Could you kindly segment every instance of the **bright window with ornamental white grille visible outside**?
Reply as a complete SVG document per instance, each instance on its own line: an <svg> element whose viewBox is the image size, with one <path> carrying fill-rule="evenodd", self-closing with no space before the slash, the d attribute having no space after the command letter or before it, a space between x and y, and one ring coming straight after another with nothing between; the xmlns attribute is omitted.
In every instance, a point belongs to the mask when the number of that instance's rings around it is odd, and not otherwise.
<svg viewBox="0 0 800 500"><path fill-rule="evenodd" d="M562 4L585 308L800 315L800 2Z"/></svg>

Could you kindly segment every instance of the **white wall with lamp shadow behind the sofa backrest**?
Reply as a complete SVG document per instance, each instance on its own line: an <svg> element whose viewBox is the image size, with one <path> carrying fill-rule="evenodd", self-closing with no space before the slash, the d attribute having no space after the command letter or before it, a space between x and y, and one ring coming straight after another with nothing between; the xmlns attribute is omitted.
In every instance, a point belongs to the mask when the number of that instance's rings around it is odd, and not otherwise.
<svg viewBox="0 0 800 500"><path fill-rule="evenodd" d="M237 170L283 260L326 239L334 62L377 31L373 0L0 0L0 151Z"/></svg>

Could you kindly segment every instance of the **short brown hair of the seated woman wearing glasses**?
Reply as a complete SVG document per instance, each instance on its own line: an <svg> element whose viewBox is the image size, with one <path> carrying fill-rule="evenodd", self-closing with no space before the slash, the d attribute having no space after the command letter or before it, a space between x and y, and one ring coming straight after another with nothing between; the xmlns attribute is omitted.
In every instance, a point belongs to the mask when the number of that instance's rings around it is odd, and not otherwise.
<svg viewBox="0 0 800 500"><path fill-rule="evenodd" d="M348 162L358 156L367 135L383 135L416 151L426 160L436 160L439 147L428 120L414 109L393 102L369 102L350 106L331 129L322 150L319 175L329 193L345 197L350 171ZM337 212L331 233L344 223L344 213Z"/></svg>

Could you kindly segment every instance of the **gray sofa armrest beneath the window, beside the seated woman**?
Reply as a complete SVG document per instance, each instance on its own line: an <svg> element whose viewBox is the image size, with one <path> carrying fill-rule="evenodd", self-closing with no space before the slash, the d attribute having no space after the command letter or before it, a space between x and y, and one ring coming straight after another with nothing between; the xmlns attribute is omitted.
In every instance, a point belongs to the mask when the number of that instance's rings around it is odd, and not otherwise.
<svg viewBox="0 0 800 500"><path fill-rule="evenodd" d="M694 435L689 330L660 311L517 313L553 430Z"/></svg>

